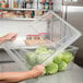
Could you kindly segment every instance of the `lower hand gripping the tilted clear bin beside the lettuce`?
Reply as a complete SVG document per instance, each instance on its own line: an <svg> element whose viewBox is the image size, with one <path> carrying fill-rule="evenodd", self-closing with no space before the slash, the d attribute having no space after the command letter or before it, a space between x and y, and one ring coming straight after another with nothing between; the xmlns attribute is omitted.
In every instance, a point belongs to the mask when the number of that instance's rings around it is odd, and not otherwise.
<svg viewBox="0 0 83 83"><path fill-rule="evenodd" d="M43 75L44 74L44 70L45 70L45 67L44 66L35 66L34 68L33 68L33 73L35 73L34 74L34 78L35 76L39 76L39 75Z"/></svg>

